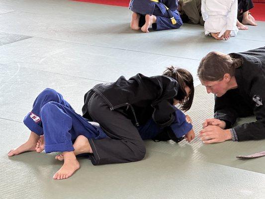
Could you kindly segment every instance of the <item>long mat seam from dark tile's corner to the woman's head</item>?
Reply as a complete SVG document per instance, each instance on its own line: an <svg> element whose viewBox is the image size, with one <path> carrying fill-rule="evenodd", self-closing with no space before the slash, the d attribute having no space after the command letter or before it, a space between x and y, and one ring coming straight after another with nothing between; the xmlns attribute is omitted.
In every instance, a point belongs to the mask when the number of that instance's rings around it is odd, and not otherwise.
<svg viewBox="0 0 265 199"><path fill-rule="evenodd" d="M181 58L181 59L187 59L187 60L200 61L199 59L192 59L192 58L186 58L186 57L178 57L178 56L173 56L173 55L164 55L164 54L159 54L159 53L150 53L150 52L130 50L130 49L123 49L123 48L114 48L114 47L108 47L108 46L100 46L100 45L95 45L95 44L79 43L79 42L74 42L74 41L66 41L66 40L51 39L51 38L45 38L45 37L35 37L35 36L34 36L34 38L48 39L48 40L61 41L61 42L67 42L67 43L74 43L74 44L81 44L81 45L87 45L87 46L100 47L100 48L108 48L108 49L132 51L132 52L145 53L145 54L151 54L151 55L160 55L160 56L165 56L165 57L174 57L174 58Z"/></svg>

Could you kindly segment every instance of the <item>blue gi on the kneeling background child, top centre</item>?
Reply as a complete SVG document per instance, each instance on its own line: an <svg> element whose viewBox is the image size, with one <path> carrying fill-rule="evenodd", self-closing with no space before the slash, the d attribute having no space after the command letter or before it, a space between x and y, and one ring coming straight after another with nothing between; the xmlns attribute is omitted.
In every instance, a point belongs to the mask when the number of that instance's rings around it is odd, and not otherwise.
<svg viewBox="0 0 265 199"><path fill-rule="evenodd" d="M170 10L167 10L165 5ZM157 17L157 22L152 24L154 30L177 29L183 24L177 11L177 0L159 0L159 2L152 0L131 0L129 9L141 15L139 20L140 27L145 24L146 14L153 14ZM176 24L172 23L169 12L174 16Z"/></svg>

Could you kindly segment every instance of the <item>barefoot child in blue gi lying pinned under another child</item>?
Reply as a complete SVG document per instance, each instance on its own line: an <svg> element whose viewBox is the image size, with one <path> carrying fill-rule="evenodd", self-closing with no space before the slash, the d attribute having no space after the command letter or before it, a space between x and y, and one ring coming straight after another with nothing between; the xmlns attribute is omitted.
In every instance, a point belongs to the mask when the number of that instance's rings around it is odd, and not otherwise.
<svg viewBox="0 0 265 199"><path fill-rule="evenodd" d="M138 126L142 139L158 139L178 141L186 134L188 141L194 138L192 125L185 121L183 113L176 109L175 119L170 129L159 127L153 119L149 119L144 125ZM188 118L188 120L190 120ZM63 99L62 95L52 89L45 89L34 101L33 109L24 118L25 125L31 130L28 141L14 150L10 150L8 156L20 154L24 151L41 152L63 152L64 165L54 175L54 179L65 179L70 177L79 169L79 162L76 155L79 153L92 153L88 148L88 139L110 139L105 132L97 126L92 125L87 119L77 114L71 105ZM77 139L77 140L76 140ZM84 140L85 139L85 140ZM87 144L85 150L75 151L73 141ZM80 143L77 143L79 145ZM58 158L59 157L59 158Z"/></svg>

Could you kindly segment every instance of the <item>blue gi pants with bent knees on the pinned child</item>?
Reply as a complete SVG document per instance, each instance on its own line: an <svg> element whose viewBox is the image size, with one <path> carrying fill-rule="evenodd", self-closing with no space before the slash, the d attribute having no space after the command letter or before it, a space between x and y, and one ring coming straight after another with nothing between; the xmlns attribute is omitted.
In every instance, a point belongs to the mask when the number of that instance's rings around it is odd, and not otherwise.
<svg viewBox="0 0 265 199"><path fill-rule="evenodd" d="M87 138L107 137L74 111L62 95L53 89L45 89L33 103L32 111L24 118L24 124L45 138L45 152L74 151L72 141L79 135Z"/></svg>

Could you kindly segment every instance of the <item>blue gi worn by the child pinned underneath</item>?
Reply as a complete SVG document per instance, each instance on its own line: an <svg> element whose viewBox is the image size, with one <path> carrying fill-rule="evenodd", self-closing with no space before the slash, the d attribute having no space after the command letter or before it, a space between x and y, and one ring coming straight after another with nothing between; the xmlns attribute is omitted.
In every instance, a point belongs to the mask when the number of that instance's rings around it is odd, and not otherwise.
<svg viewBox="0 0 265 199"><path fill-rule="evenodd" d="M176 114L178 116L171 128L180 138L191 130L192 125L186 122L180 110ZM24 124L36 134L44 134L46 153L74 151L73 141L79 135L94 139L108 137L99 126L76 113L63 96L53 89L45 89L39 94L31 112L25 116ZM162 130L153 119L138 127L142 139L152 139Z"/></svg>

